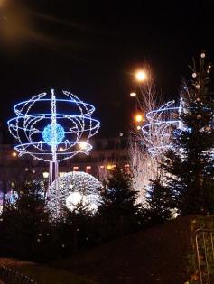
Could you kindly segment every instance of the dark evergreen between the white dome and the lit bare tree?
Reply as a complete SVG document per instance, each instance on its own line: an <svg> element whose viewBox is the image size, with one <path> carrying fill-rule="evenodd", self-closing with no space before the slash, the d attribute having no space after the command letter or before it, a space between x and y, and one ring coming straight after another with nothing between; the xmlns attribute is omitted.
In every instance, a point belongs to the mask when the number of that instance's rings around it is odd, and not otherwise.
<svg viewBox="0 0 214 284"><path fill-rule="evenodd" d="M131 188L129 175L115 169L102 192L98 209L101 239L110 240L135 232L140 226L137 192Z"/></svg>

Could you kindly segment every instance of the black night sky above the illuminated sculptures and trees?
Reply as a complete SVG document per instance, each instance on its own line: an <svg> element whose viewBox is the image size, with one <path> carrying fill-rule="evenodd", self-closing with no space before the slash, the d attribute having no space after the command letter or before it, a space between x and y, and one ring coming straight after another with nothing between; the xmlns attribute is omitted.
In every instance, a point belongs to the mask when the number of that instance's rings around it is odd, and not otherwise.
<svg viewBox="0 0 214 284"><path fill-rule="evenodd" d="M118 135L130 124L136 67L149 63L168 99L192 56L214 60L213 11L205 0L0 0L2 124L15 102L55 87L97 107L101 135Z"/></svg>

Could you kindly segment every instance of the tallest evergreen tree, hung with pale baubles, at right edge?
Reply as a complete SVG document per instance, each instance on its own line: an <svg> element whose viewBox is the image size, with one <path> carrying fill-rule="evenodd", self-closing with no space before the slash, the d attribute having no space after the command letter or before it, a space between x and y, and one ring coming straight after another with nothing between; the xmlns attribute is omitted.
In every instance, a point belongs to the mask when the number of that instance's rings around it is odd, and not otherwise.
<svg viewBox="0 0 214 284"><path fill-rule="evenodd" d="M211 65L204 58L201 53L190 86L184 86L180 124L162 164L165 185L182 215L214 212L214 96L208 88Z"/></svg>

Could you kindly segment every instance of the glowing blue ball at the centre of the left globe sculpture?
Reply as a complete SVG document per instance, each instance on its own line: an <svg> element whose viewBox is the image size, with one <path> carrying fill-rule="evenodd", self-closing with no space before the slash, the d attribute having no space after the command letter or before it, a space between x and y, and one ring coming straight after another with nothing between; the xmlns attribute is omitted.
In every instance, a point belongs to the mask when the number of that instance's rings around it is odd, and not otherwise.
<svg viewBox="0 0 214 284"><path fill-rule="evenodd" d="M63 141L65 137L65 131L60 124L55 124L55 130L53 129L53 125L49 124L44 127L42 137L44 142L46 142L48 145L57 146L58 144L60 144L60 142Z"/></svg>

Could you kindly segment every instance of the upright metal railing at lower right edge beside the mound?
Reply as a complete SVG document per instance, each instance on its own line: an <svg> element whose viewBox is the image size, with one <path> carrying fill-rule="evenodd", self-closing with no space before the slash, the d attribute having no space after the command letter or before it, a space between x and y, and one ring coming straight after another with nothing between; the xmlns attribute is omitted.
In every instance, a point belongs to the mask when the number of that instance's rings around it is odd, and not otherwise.
<svg viewBox="0 0 214 284"><path fill-rule="evenodd" d="M214 284L214 231L198 229L194 239L200 284Z"/></svg>

